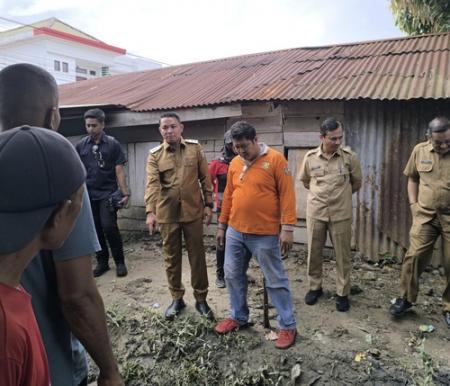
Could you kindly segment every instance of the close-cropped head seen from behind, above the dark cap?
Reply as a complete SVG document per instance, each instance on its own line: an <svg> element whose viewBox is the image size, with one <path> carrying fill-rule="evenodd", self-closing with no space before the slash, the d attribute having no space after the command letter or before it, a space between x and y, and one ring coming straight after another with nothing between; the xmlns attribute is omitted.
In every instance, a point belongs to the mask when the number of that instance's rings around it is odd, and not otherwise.
<svg viewBox="0 0 450 386"><path fill-rule="evenodd" d="M21 125L59 126L58 86L47 71L20 63L0 71L0 131Z"/></svg>

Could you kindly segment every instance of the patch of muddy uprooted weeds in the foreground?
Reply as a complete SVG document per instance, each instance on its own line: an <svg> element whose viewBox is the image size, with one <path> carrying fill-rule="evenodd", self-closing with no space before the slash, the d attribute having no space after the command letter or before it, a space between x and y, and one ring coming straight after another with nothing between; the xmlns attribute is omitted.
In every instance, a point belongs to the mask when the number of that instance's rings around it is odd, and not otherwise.
<svg viewBox="0 0 450 386"><path fill-rule="evenodd" d="M259 334L218 336L195 314L168 322L159 310L113 306L107 321L127 386L287 385L300 376L294 358L281 356L273 364L252 358L262 346ZM93 381L95 366L90 368Z"/></svg>

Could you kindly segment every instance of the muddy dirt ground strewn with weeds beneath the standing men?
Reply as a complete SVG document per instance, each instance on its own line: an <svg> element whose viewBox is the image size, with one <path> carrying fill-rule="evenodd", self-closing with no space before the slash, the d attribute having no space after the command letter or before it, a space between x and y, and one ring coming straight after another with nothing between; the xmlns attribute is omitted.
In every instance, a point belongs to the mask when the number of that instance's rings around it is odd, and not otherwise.
<svg viewBox="0 0 450 386"><path fill-rule="evenodd" d="M213 239L205 238L205 244L207 300L222 319L228 316L228 293L214 284ZM167 322L163 313L171 299L158 235L126 235L125 253L129 275L116 278L111 269L97 283L127 385L450 385L450 329L441 315L444 281L439 270L423 274L414 311L396 321L388 307L397 295L400 266L394 259L371 264L355 254L351 309L340 313L330 258L324 263L325 296L315 306L305 305L306 252L296 246L284 262L299 335L294 347L280 351L263 328L262 275L256 262L248 272L254 325L224 337L195 311L186 254L188 306L175 322ZM273 308L270 315L275 328Z"/></svg>

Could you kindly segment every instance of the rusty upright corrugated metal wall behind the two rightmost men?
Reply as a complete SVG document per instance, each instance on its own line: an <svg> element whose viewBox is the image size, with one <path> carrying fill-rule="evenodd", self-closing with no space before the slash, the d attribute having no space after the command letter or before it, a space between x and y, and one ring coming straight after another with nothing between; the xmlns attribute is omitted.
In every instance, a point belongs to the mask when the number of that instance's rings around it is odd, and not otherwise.
<svg viewBox="0 0 450 386"><path fill-rule="evenodd" d="M344 115L346 144L358 153L364 176L354 198L358 249L375 261L401 258L411 225L403 169L428 122L450 116L450 101L349 101Z"/></svg>

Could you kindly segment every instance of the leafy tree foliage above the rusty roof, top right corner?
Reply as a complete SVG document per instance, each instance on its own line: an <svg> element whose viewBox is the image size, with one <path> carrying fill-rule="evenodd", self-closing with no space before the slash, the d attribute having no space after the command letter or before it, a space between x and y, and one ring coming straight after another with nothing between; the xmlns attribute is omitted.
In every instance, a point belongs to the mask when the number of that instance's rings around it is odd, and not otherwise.
<svg viewBox="0 0 450 386"><path fill-rule="evenodd" d="M450 31L449 0L391 0L391 11L408 35Z"/></svg>

